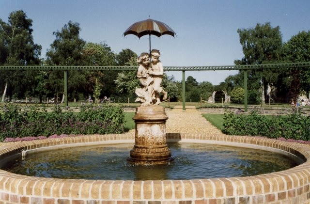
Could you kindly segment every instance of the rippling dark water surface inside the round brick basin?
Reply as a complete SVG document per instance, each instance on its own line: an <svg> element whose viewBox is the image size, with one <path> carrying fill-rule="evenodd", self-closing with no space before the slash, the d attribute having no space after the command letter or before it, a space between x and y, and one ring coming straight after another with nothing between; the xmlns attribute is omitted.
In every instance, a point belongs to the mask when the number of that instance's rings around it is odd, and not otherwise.
<svg viewBox="0 0 310 204"><path fill-rule="evenodd" d="M251 176L299 163L263 150L202 143L170 143L174 160L140 166L126 158L133 144L65 148L28 155L5 170L38 177L100 180L177 180Z"/></svg>

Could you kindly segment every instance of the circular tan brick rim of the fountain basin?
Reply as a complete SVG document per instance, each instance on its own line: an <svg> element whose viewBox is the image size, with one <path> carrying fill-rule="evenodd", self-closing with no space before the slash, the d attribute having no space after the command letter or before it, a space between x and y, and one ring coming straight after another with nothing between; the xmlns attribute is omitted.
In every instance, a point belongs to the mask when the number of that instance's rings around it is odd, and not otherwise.
<svg viewBox="0 0 310 204"><path fill-rule="evenodd" d="M25 151L60 145L134 142L134 132L18 142L0 149L0 163L21 157ZM202 202L298 203L310 201L310 147L272 139L167 133L168 141L215 143L281 152L305 162L292 169L247 177L192 180L83 180L31 177L0 170L3 203Z"/></svg>

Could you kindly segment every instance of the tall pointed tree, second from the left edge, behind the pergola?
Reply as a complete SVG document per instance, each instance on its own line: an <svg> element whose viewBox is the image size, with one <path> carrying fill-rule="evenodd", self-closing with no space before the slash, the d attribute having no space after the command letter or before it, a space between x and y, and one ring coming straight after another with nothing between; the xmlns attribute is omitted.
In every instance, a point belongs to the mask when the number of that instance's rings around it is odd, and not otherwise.
<svg viewBox="0 0 310 204"><path fill-rule="evenodd" d="M83 65L82 50L85 41L79 38L80 27L78 23L69 21L64 25L61 31L53 32L56 36L54 42L47 50L47 63L50 65ZM63 80L55 80L63 78L62 71L52 71L49 75L49 82L54 89L54 93L62 94L63 101ZM68 72L68 89L71 93L77 93L77 90L86 83L85 75L81 71ZM57 82L57 83L56 83ZM78 86L77 86L78 85ZM75 97L75 96L73 96Z"/></svg>

